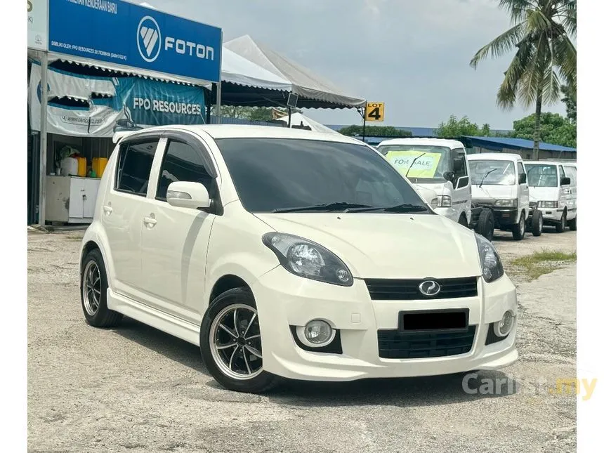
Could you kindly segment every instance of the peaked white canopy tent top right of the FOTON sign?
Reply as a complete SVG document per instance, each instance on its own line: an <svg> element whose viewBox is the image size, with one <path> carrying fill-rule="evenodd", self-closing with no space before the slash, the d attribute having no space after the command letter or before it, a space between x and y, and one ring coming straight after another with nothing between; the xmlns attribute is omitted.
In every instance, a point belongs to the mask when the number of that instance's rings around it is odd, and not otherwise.
<svg viewBox="0 0 604 453"><path fill-rule="evenodd" d="M224 47L263 69L286 79L291 83L291 91L298 94L301 108L356 108L364 107L366 100L343 93L330 81L317 76L308 68L285 58L249 35L232 39Z"/></svg>

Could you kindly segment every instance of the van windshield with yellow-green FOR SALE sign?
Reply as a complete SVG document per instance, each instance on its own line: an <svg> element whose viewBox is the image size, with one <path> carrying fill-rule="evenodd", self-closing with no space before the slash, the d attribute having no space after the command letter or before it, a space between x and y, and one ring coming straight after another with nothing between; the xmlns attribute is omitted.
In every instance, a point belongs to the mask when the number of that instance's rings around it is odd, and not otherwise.
<svg viewBox="0 0 604 453"><path fill-rule="evenodd" d="M445 146L383 145L378 150L408 178L444 180L443 175L452 170L449 159L451 150Z"/></svg>

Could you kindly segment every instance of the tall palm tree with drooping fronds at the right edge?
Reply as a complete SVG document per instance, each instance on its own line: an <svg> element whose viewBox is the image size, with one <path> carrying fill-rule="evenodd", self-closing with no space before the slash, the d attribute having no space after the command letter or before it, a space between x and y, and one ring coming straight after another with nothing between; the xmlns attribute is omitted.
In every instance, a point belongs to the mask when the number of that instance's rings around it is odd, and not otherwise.
<svg viewBox="0 0 604 453"><path fill-rule="evenodd" d="M497 105L508 110L517 99L524 107L535 105L533 158L539 159L541 106L556 103L563 84L577 93L577 48L571 40L577 36L577 1L499 0L499 8L510 14L512 27L476 52L470 66L515 49Z"/></svg>

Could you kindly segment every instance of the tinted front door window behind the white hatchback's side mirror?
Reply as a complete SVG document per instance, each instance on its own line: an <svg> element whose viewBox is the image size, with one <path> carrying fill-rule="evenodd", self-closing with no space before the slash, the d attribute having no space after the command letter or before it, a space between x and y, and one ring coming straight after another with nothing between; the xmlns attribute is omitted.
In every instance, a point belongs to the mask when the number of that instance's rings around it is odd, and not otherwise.
<svg viewBox="0 0 604 453"><path fill-rule="evenodd" d="M166 199L166 192L171 183L188 181L202 183L211 194L213 178L204 166L202 155L191 145L177 140L169 140L159 172L156 199Z"/></svg>

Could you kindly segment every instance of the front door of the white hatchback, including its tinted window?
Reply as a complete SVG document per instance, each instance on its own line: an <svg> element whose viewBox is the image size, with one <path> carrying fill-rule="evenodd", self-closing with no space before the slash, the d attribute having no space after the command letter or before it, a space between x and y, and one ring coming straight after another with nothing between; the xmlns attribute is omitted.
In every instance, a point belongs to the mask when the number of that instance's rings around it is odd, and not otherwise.
<svg viewBox="0 0 604 453"><path fill-rule="evenodd" d="M145 301L159 310L199 325L199 298L204 294L206 255L215 214L171 206L166 202L170 183L202 183L211 198L218 180L209 152L190 136L167 139L163 155L156 157L142 226L140 255Z"/></svg>

